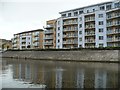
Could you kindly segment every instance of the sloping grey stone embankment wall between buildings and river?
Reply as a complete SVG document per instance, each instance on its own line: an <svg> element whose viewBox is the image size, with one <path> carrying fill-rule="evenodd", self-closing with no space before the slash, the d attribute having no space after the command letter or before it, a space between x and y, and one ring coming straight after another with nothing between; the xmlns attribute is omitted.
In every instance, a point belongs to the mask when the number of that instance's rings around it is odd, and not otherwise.
<svg viewBox="0 0 120 90"><path fill-rule="evenodd" d="M2 54L2 57L36 60L118 62L119 50L6 51Z"/></svg>

